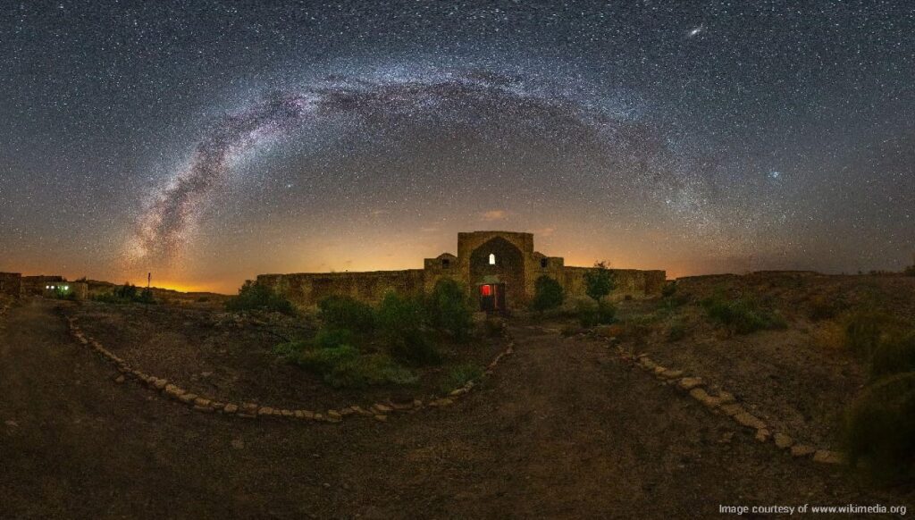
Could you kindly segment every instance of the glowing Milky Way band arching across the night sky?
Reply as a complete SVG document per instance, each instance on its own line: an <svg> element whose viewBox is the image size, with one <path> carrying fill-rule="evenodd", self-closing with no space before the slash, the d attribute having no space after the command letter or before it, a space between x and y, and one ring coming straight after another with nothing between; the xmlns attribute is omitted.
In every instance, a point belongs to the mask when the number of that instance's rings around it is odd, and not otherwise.
<svg viewBox="0 0 915 520"><path fill-rule="evenodd" d="M137 218L127 258L167 261L180 253L214 190L226 183L234 158L269 138L335 117L383 122L436 114L483 121L497 114L524 125L561 125L566 132L574 129L597 138L615 164L626 163L627 171L651 182L655 192L683 183L670 168L670 157L659 154L661 137L609 104L479 71L421 79L335 77L274 92L210 124L188 165L153 194Z"/></svg>

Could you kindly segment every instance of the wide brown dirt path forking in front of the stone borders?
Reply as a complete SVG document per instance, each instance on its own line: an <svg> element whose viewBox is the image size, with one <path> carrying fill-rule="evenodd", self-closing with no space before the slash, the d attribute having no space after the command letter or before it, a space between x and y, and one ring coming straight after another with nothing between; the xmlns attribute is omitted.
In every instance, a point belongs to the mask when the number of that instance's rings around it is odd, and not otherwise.
<svg viewBox="0 0 915 520"><path fill-rule="evenodd" d="M905 504L759 445L602 344L515 326L479 392L385 424L196 414L0 319L0 517L709 517L718 504ZM10 422L12 421L12 422ZM771 517L771 516L768 516ZM848 516L845 516L848 517Z"/></svg>

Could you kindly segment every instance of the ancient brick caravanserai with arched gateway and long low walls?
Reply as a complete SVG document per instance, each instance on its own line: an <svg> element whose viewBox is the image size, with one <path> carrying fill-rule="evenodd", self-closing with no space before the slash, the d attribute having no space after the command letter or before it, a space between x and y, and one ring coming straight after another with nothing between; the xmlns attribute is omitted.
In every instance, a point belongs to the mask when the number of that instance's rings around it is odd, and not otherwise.
<svg viewBox="0 0 915 520"><path fill-rule="evenodd" d="M478 231L458 233L458 255L443 253L426 258L422 269L260 275L257 282L274 287L298 305L312 306L330 295L376 302L388 291L420 294L431 290L442 278L453 278L479 297L480 309L512 309L525 306L533 298L534 284L540 276L558 281L567 298L584 298L584 278L591 269L565 266L562 257L534 251L533 233ZM611 298L661 294L664 271L612 271L617 286Z"/></svg>

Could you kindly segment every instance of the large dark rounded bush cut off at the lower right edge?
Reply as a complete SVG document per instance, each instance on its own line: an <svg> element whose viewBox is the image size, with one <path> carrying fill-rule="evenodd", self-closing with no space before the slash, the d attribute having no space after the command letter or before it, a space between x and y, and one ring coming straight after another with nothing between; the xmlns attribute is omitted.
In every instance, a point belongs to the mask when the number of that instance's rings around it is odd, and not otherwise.
<svg viewBox="0 0 915 520"><path fill-rule="evenodd" d="M915 469L915 372L871 385L845 413L850 462L867 460L875 476L912 477Z"/></svg>

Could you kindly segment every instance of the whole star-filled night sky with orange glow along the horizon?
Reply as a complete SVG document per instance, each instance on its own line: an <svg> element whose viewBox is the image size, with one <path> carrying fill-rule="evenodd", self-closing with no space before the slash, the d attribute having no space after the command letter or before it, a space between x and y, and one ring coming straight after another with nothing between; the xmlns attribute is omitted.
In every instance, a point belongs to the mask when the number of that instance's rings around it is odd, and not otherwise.
<svg viewBox="0 0 915 520"><path fill-rule="evenodd" d="M0 2L0 270L899 270L907 2Z"/></svg>

